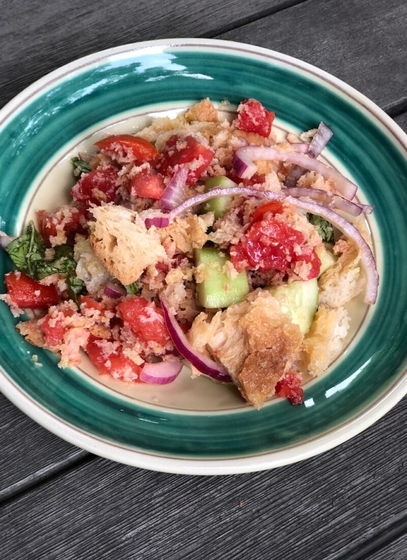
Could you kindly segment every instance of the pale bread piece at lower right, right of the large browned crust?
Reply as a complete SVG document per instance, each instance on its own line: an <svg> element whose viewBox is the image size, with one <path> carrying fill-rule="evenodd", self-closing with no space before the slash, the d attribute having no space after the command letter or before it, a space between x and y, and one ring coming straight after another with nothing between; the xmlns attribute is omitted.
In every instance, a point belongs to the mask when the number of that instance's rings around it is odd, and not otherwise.
<svg viewBox="0 0 407 560"><path fill-rule="evenodd" d="M320 306L306 335L302 348L306 354L308 372L322 374L338 356L349 330L349 315L344 307L328 309Z"/></svg>

